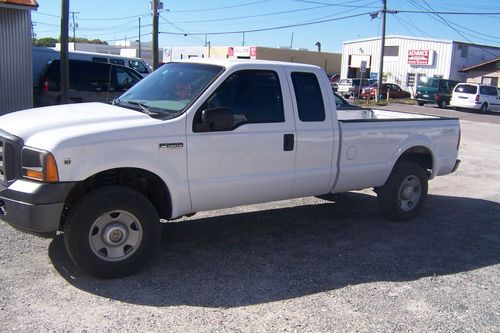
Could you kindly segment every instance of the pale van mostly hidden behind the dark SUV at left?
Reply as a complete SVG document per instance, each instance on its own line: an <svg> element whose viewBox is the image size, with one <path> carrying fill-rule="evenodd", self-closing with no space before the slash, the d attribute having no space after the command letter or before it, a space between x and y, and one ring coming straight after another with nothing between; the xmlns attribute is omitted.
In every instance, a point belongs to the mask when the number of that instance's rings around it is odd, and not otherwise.
<svg viewBox="0 0 500 333"><path fill-rule="evenodd" d="M51 59L59 59L61 57L59 51L48 47L33 46L33 87L38 85L38 75L42 71L43 67L47 65ZM68 58L71 60L86 60L94 62L104 62L111 63L114 65L120 65L125 67L130 67L142 76L146 76L152 72L152 69L144 60L141 58L134 57L123 57L114 54L105 53L94 53L94 52L84 52L84 51L69 51Z"/></svg>

